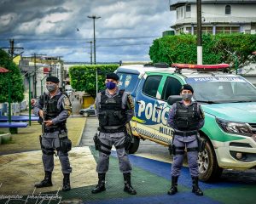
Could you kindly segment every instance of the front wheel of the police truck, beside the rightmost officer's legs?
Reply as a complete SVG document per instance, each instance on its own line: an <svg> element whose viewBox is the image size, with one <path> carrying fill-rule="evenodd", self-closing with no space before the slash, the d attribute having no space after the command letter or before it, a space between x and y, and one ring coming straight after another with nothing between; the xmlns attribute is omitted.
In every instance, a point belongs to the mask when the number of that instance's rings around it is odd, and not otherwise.
<svg viewBox="0 0 256 204"><path fill-rule="evenodd" d="M211 182L221 176L223 168L218 167L215 151L209 139L207 139L205 150L198 154L198 166L199 178L202 181Z"/></svg>

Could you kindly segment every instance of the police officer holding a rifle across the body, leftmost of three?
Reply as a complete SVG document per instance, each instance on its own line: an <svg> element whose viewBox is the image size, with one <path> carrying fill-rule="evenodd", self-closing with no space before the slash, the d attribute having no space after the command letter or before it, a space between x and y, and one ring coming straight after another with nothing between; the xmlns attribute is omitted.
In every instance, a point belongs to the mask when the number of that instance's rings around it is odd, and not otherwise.
<svg viewBox="0 0 256 204"><path fill-rule="evenodd" d="M44 180L35 184L37 188L52 186L51 174L54 169L55 150L61 161L63 173L63 191L70 190L70 173L72 167L68 158L68 151L71 150L71 141L67 138L67 117L72 111L71 103L66 94L59 89L57 77L46 78L46 88L49 93L41 95L34 107L34 114L40 117L43 133L40 136L40 144L43 152Z"/></svg>

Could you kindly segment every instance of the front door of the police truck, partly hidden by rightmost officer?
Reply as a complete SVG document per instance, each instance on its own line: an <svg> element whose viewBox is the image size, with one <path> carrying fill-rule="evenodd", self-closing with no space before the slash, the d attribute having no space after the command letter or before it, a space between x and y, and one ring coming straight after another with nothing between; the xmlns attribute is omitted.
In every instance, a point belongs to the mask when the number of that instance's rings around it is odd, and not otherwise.
<svg viewBox="0 0 256 204"><path fill-rule="evenodd" d="M179 95L183 81L176 76L166 76L163 78L158 99L155 100L155 109L157 109L158 125L154 126L155 135L164 143L172 142L173 129L168 127L167 119L172 106L167 104L167 99L170 95Z"/></svg>

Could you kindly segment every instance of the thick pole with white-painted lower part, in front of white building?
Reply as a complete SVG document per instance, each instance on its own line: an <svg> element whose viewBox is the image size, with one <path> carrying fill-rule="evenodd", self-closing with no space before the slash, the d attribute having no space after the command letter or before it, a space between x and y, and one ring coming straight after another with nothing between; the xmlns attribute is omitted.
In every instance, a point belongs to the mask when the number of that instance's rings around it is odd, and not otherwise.
<svg viewBox="0 0 256 204"><path fill-rule="evenodd" d="M202 65L201 0L196 0L196 8L197 8L197 65Z"/></svg>

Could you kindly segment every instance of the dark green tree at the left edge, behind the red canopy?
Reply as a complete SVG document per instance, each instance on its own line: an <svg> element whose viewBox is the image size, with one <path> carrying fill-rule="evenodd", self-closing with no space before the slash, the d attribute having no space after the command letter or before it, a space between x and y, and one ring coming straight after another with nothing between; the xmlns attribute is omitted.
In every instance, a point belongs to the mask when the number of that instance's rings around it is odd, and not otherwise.
<svg viewBox="0 0 256 204"><path fill-rule="evenodd" d="M24 86L20 69L10 58L9 54L0 49L0 66L6 68L10 73L0 73L0 103L9 99L8 82L11 82L11 102L21 102L24 99Z"/></svg>

